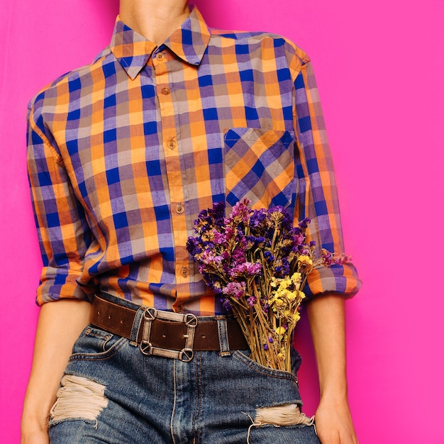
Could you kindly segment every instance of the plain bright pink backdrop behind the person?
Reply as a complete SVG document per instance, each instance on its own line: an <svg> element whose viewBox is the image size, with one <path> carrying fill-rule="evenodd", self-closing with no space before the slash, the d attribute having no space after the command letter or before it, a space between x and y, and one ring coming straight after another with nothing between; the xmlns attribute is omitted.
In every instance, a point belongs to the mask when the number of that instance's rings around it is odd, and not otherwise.
<svg viewBox="0 0 444 444"><path fill-rule="evenodd" d="M198 0L210 26L270 30L313 60L345 247L365 284L348 301L360 444L444 443L442 0ZM18 443L41 267L26 179L28 99L108 44L116 0L4 0L0 14L0 441ZM308 326L305 409L318 397Z"/></svg>

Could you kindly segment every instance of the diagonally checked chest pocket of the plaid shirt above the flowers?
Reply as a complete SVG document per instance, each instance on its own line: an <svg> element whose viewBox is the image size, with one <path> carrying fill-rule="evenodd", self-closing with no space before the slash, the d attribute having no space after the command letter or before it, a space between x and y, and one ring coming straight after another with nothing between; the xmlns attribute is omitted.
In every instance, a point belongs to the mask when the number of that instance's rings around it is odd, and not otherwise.
<svg viewBox="0 0 444 444"><path fill-rule="evenodd" d="M226 201L253 208L288 206L294 194L292 131L230 128L224 134Z"/></svg>

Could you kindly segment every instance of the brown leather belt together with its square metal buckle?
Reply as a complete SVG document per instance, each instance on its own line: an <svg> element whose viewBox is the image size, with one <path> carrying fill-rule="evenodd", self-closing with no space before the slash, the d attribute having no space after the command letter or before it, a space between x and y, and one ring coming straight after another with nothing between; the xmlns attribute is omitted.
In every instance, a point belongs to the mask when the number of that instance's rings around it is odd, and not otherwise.
<svg viewBox="0 0 444 444"><path fill-rule="evenodd" d="M218 319L226 319L226 330ZM134 305L123 306L100 295L94 296L92 325L123 336L147 355L192 359L194 351L221 350L220 335L226 335L230 350L247 350L248 344L235 319L226 316L199 318L193 314L158 311Z"/></svg>

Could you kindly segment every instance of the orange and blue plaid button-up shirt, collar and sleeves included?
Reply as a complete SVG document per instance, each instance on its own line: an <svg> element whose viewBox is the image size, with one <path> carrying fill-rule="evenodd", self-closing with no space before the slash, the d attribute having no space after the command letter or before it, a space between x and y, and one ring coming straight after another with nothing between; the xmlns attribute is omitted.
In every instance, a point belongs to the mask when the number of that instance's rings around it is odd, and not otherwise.
<svg viewBox="0 0 444 444"><path fill-rule="evenodd" d="M194 8L160 47L119 19L111 45L30 101L28 171L43 254L39 304L97 289L223 313L185 248L201 209L247 196L310 217L342 251L311 63L284 38L209 30ZM309 294L354 294L353 265Z"/></svg>

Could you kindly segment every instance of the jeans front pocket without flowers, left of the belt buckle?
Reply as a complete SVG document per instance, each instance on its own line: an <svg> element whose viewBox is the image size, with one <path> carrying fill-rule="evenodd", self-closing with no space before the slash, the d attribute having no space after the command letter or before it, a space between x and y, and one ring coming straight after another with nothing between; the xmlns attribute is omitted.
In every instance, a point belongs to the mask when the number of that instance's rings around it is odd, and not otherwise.
<svg viewBox="0 0 444 444"><path fill-rule="evenodd" d="M87 326L74 343L70 360L106 359L116 353L126 338L94 326Z"/></svg>

